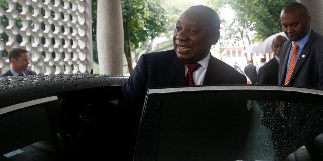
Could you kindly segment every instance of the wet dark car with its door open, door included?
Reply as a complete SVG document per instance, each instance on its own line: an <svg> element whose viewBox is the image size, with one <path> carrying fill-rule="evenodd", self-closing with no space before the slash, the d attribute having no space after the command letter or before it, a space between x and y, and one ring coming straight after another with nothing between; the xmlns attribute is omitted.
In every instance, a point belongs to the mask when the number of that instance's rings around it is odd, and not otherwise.
<svg viewBox="0 0 323 161"><path fill-rule="evenodd" d="M0 160L120 160L131 155L122 145L128 144L122 133L129 120L117 106L126 81L107 75L0 78ZM280 103L286 107L283 113ZM253 85L150 89L134 160L322 160L322 133L321 90Z"/></svg>

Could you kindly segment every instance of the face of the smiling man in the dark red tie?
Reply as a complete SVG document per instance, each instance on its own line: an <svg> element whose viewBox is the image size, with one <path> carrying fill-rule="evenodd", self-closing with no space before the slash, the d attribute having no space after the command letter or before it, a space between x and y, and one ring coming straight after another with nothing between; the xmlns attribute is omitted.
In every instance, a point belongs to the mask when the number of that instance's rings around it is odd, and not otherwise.
<svg viewBox="0 0 323 161"><path fill-rule="evenodd" d="M207 17L203 11L192 8L179 17L173 34L173 44L181 61L200 61L210 53L211 45L217 42L219 32L211 29Z"/></svg>

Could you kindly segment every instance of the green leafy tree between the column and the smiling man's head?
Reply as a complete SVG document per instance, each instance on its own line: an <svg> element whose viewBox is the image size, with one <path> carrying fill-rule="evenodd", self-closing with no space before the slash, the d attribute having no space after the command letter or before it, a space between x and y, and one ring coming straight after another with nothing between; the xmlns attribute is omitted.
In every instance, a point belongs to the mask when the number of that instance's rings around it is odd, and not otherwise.
<svg viewBox="0 0 323 161"><path fill-rule="evenodd" d="M123 0L122 15L124 27L129 23L130 43L135 49L140 42L154 39L166 31L166 15L160 1ZM127 36L125 30L124 35Z"/></svg>

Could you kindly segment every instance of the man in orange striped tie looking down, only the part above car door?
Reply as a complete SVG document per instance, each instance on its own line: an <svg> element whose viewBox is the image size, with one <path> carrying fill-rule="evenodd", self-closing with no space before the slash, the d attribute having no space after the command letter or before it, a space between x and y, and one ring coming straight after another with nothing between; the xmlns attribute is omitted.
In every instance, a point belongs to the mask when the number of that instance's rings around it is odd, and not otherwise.
<svg viewBox="0 0 323 161"><path fill-rule="evenodd" d="M290 3L280 19L289 41L281 49L279 85L323 89L323 36L311 29L307 8Z"/></svg>

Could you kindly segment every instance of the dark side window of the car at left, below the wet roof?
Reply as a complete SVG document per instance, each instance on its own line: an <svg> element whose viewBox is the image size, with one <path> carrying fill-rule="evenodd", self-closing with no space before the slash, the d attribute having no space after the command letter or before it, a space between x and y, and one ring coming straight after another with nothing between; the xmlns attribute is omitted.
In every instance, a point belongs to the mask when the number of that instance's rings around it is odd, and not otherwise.
<svg viewBox="0 0 323 161"><path fill-rule="evenodd" d="M6 129L0 132L1 157L7 160L57 160L67 150L61 149L66 141L63 137L67 137L62 133L64 124L63 111L57 101L1 115L0 127Z"/></svg>

